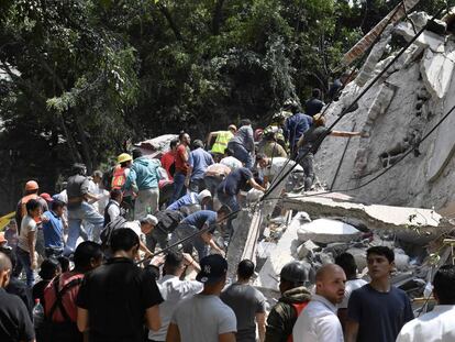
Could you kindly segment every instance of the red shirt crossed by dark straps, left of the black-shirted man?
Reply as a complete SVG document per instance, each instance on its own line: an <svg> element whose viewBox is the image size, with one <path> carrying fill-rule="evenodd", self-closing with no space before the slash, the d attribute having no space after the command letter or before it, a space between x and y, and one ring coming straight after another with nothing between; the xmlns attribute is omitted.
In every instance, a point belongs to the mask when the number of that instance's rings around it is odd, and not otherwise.
<svg viewBox="0 0 455 342"><path fill-rule="evenodd" d="M60 290L66 284L69 282L77 279L77 278L84 278L84 274L80 273L73 273L73 272L65 272L63 275L60 275L60 284L58 286L58 289ZM77 307L76 307L76 298L77 294L79 293L80 285L76 285L71 287L66 294L64 294L62 302L63 306L68 313L69 318L73 322L77 321ZM46 316L49 315L52 307L55 302L55 289L54 289L54 282L51 282L49 285L44 289L44 311L46 312ZM64 322L65 319L60 312L60 310L55 309L54 315L52 317L52 320L54 322Z"/></svg>

